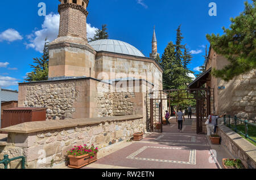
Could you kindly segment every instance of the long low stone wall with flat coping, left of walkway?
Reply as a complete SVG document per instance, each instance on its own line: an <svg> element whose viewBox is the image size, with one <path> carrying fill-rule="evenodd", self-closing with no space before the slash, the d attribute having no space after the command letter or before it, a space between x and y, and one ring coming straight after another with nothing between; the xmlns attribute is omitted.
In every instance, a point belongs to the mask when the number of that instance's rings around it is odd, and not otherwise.
<svg viewBox="0 0 256 180"><path fill-rule="evenodd" d="M0 159L6 154L24 156L26 168L67 165L67 151L74 145L94 144L101 149L145 130L141 115L27 122L1 130L8 132L8 139L0 147ZM19 167L16 161L10 168Z"/></svg>

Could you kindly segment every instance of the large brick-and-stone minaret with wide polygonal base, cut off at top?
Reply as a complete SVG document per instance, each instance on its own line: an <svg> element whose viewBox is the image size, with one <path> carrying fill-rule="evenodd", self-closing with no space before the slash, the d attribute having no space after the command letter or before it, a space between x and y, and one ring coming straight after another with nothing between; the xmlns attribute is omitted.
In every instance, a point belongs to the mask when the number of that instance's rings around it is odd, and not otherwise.
<svg viewBox="0 0 256 180"><path fill-rule="evenodd" d="M95 78L96 52L86 35L89 0L59 1L59 36L49 46L49 79Z"/></svg>

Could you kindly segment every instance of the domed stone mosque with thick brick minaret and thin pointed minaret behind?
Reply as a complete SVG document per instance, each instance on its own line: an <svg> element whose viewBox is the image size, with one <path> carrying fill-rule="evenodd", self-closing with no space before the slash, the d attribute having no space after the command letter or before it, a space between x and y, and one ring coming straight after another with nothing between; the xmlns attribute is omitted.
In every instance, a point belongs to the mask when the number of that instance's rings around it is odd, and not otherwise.
<svg viewBox="0 0 256 180"><path fill-rule="evenodd" d="M45 107L48 119L139 114L146 121L146 91L162 89L155 31L150 58L122 41L88 43L89 0L60 2L59 36L49 45L49 79L20 83L19 106Z"/></svg>

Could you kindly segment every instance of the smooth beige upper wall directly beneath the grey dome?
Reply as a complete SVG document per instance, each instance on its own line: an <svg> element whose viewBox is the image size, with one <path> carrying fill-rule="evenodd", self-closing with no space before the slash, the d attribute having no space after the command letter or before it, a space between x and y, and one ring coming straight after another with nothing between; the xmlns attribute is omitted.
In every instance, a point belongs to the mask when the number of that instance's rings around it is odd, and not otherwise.
<svg viewBox="0 0 256 180"><path fill-rule="evenodd" d="M103 80L119 78L145 79L150 83L154 83L155 87L159 89L163 87L162 70L154 60L129 55L97 53L96 78Z"/></svg>

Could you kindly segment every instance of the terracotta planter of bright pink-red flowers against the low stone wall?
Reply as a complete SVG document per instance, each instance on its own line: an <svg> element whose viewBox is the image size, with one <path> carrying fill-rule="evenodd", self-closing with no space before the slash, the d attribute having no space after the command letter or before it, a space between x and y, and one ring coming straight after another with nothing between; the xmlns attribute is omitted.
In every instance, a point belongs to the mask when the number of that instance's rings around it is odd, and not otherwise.
<svg viewBox="0 0 256 180"><path fill-rule="evenodd" d="M84 147L75 145L68 151L69 168L82 168L82 166L97 161L97 152L98 148L95 148L94 145L90 148L86 144Z"/></svg>

